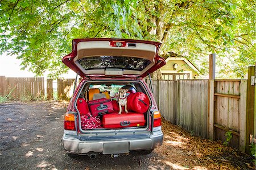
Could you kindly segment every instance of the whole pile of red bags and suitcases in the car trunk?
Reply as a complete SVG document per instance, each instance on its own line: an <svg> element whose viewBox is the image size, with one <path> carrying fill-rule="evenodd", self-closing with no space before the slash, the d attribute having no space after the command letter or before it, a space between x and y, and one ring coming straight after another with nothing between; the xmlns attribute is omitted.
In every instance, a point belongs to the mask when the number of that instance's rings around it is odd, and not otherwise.
<svg viewBox="0 0 256 170"><path fill-rule="evenodd" d="M88 102L84 98L77 100L77 109L79 109L81 115L81 127L83 130L102 127L141 127L146 124L144 113L148 110L150 101L147 95L142 92L129 94L127 97L127 110L129 110L129 113L123 111L122 114L118 114L118 102L109 99L109 96L108 98L100 99L94 99L89 96L89 99L91 100Z"/></svg>

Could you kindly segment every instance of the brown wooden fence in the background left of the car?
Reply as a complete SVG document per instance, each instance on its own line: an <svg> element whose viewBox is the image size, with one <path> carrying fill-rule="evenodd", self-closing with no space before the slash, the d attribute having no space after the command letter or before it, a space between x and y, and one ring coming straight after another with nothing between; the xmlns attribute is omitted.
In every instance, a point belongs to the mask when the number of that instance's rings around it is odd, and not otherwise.
<svg viewBox="0 0 256 170"><path fill-rule="evenodd" d="M73 95L75 79L57 80L57 99L69 99ZM5 77L0 76L0 96L9 99L34 101L45 98L43 77ZM46 99L53 99L53 80L46 81Z"/></svg>

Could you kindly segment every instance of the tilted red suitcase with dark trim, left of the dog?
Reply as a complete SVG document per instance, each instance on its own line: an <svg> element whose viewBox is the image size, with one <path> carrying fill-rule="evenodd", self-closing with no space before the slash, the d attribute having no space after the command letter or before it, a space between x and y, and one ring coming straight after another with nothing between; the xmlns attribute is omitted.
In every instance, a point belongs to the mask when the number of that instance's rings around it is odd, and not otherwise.
<svg viewBox="0 0 256 170"><path fill-rule="evenodd" d="M88 105L90 108L90 113L92 114L93 117L96 117L98 115L103 115L106 113L112 113L114 111L112 101L106 98L89 101Z"/></svg>

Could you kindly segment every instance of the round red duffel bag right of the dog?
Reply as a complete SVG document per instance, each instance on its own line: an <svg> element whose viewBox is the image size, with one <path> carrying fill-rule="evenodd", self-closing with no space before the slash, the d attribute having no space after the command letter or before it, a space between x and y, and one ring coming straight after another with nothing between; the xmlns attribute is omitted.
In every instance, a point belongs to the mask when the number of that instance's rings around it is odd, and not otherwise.
<svg viewBox="0 0 256 170"><path fill-rule="evenodd" d="M150 101L146 94L142 92L131 93L127 97L127 109L135 113L145 113L150 106Z"/></svg>

